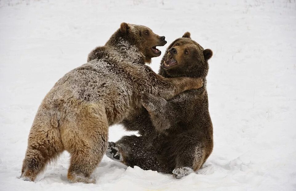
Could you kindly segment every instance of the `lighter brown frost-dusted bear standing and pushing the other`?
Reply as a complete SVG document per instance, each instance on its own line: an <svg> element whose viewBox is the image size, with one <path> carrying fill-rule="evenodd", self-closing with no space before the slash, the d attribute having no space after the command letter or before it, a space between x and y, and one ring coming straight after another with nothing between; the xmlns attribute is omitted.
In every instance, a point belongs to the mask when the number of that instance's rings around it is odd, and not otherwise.
<svg viewBox="0 0 296 191"><path fill-rule="evenodd" d="M90 175L106 151L108 127L142 105L141 92L168 99L201 87L202 80L166 79L145 65L160 55L151 47L164 44L164 36L151 29L122 23L105 46L90 53L88 63L59 79L35 116L21 178L34 181L66 150L71 155L70 182L94 183Z"/></svg>

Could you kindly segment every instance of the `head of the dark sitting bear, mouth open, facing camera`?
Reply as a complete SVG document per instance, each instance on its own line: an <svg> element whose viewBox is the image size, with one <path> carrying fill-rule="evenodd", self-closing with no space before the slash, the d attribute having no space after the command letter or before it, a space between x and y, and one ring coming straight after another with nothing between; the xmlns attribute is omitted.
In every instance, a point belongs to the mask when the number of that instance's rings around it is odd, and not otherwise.
<svg viewBox="0 0 296 191"><path fill-rule="evenodd" d="M186 32L167 48L159 72L166 77L206 78L209 70L208 60L212 55L213 52L210 49L203 49L191 39L190 33Z"/></svg>

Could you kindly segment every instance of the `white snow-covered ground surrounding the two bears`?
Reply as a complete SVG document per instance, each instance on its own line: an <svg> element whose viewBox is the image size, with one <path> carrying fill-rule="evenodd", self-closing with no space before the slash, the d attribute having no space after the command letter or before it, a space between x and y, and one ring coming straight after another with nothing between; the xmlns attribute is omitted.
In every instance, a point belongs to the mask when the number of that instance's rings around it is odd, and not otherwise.
<svg viewBox="0 0 296 191"><path fill-rule="evenodd" d="M123 21L213 50L212 155L181 180L105 156L96 184L70 184L68 153L36 182L18 179L41 100ZM296 190L295 0L0 0L0 82L0 190ZM111 127L110 141L129 133Z"/></svg>

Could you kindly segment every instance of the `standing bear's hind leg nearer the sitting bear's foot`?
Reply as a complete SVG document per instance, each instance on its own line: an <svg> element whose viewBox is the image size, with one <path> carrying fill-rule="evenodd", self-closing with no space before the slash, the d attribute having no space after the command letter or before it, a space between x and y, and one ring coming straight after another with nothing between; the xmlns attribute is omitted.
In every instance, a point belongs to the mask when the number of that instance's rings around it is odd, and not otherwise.
<svg viewBox="0 0 296 191"><path fill-rule="evenodd" d="M70 152L70 182L95 183L90 176L101 162L108 144L108 122L104 109L80 106L77 114L62 126L65 149Z"/></svg>

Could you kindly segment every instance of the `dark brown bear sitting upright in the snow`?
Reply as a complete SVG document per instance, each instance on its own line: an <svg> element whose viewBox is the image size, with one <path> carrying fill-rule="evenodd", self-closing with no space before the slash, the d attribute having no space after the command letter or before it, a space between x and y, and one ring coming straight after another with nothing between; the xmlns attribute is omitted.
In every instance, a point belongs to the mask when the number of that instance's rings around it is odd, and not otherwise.
<svg viewBox="0 0 296 191"><path fill-rule="evenodd" d="M159 74L166 78L206 78L212 56L186 32L167 48ZM208 109L206 81L166 101L144 94L142 112L124 120L127 130L141 136L124 136L109 142L106 155L127 166L173 173L182 178L198 170L213 150L213 126Z"/></svg>

